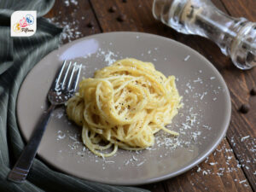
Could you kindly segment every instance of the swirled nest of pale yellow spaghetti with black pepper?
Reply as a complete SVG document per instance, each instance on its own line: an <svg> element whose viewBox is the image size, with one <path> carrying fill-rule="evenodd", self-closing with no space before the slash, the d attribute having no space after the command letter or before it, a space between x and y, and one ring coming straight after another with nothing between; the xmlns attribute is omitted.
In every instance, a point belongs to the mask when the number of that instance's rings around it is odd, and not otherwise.
<svg viewBox="0 0 256 192"><path fill-rule="evenodd" d="M150 62L124 59L96 71L93 79L83 79L67 102L67 116L83 126L85 146L108 157L118 148L154 145L154 133L160 130L177 136L165 126L177 114L181 98L174 76L166 78ZM106 153L108 148L113 149Z"/></svg>

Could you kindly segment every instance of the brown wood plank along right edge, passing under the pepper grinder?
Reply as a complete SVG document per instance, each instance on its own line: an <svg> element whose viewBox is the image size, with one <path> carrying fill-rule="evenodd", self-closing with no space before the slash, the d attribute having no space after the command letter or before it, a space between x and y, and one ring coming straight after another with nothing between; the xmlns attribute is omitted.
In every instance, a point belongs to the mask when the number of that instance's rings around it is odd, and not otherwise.
<svg viewBox="0 0 256 192"><path fill-rule="evenodd" d="M227 9L226 13L231 16L246 17L248 20L256 21L255 0L222 0L222 2L225 9ZM222 74L230 88L232 99L232 117L227 137L234 149L236 158L240 161L242 169L255 191L256 97L250 96L249 92L256 86L256 69L241 72L234 67L230 67L224 70ZM251 106L251 110L247 114L239 112L243 103L249 103Z"/></svg>

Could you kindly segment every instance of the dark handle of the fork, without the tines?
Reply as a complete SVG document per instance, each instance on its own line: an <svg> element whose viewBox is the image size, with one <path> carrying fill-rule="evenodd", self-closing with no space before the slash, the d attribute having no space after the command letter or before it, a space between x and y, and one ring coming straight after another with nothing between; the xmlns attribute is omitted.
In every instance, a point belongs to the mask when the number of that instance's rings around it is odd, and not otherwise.
<svg viewBox="0 0 256 192"><path fill-rule="evenodd" d="M26 180L27 173L29 172L34 157L37 154L38 146L44 135L46 125L49 122L50 114L55 109L55 105L50 105L46 113L43 114L42 119L38 121L35 130L30 137L26 148L23 149L22 154L20 154L19 160L15 163L12 171L9 172L8 179L15 183L22 183Z"/></svg>

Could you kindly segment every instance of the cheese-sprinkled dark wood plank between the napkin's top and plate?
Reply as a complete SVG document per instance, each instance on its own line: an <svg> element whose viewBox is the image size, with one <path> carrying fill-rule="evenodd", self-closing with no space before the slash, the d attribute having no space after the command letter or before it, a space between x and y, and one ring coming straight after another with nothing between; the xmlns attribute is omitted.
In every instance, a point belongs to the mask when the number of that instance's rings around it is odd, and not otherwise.
<svg viewBox="0 0 256 192"><path fill-rule="evenodd" d="M61 37L63 44L101 32L88 0L55 0L54 7L45 17L64 29ZM92 26L88 26L88 24L92 24Z"/></svg>

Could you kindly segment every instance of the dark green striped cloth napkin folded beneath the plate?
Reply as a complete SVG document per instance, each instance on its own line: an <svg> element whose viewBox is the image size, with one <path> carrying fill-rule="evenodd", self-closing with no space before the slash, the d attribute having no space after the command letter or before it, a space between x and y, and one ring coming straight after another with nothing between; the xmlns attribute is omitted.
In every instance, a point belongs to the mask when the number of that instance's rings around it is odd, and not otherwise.
<svg viewBox="0 0 256 192"><path fill-rule="evenodd" d="M42 18L54 0L0 1L0 191L147 191L93 183L57 172L35 159L25 183L7 180L25 144L20 137L15 107L22 80L44 55L59 44L61 28ZM37 32L32 37L10 37L10 15L15 10L37 10Z"/></svg>

